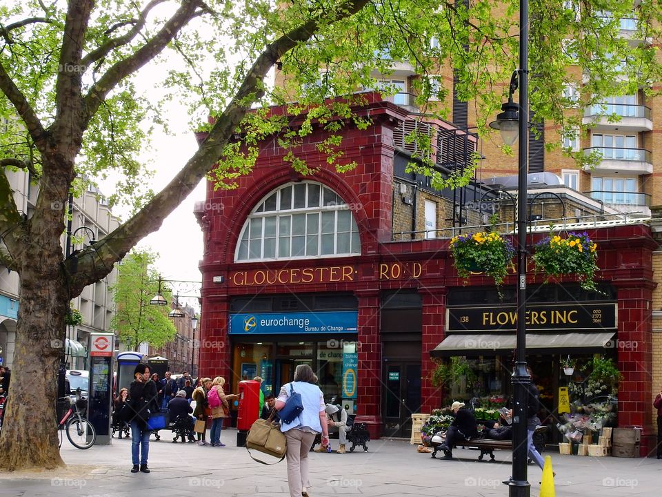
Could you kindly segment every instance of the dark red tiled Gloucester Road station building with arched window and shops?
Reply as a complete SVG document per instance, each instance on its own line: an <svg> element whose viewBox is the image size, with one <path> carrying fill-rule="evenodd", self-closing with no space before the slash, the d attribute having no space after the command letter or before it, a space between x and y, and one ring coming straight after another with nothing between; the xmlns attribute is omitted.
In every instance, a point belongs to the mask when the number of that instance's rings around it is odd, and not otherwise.
<svg viewBox="0 0 662 497"><path fill-rule="evenodd" d="M197 211L205 237L200 373L224 376L233 392L239 380L259 375L271 393L291 380L297 364L308 363L327 401L341 396L372 436L408 436L410 414L443 401L430 380L434 349L435 355L476 358L482 382L476 388L509 393L514 331L501 315L513 305L514 276L503 300L487 278L466 284L457 277L450 235L441 228L457 193L434 191L408 172L410 155L398 146L405 110L375 97L358 112L372 125L343 131L345 157L358 164L349 173L326 164L316 130L298 150L310 166L319 165L314 176L294 173L284 150L268 140L239 188L208 186ZM439 136L466 135L444 122L431 126ZM448 147L436 143L441 164ZM483 186L471 188L463 195L483 192ZM581 291L572 280L541 285L531 274L528 308L556 318L546 326L532 322L529 360L554 413L561 357L614 355L623 372L619 425L643 428L644 455L652 448L646 371L652 370L657 244L645 224L594 226L587 231L599 247L603 293ZM532 235L532 242L542 236ZM605 349L610 344L614 348ZM466 387L454 385L446 398L462 396Z"/></svg>

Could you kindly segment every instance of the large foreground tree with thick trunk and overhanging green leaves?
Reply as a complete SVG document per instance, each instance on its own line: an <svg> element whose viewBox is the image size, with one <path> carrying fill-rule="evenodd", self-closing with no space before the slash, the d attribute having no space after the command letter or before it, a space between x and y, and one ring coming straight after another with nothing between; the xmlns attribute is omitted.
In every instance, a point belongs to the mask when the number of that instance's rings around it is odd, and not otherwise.
<svg viewBox="0 0 662 497"><path fill-rule="evenodd" d="M570 2L572 6L572 1ZM566 72L571 59L590 78L581 86L585 104L605 95L625 94L639 82L659 81L657 53L662 10L642 0L638 39L619 37L619 18L628 2L583 0L531 3L532 110L563 129L581 123L565 113L563 87L582 83ZM250 174L263 137L276 135L290 152L286 159L312 173L294 147L314 126L328 138L319 149L338 170L352 167L342 154L341 126L365 127L352 115L357 88L381 88L374 70L388 75L392 60L411 64L423 75L414 84L425 112L443 117L449 87L438 75L452 68L461 99L474 100L481 133L503 99L503 82L516 68L516 1L483 0L468 8L450 0L23 0L0 4L0 166L30 171L39 195L29 213L18 211L8 178L0 174L0 262L21 278L12 389L0 433L0 453L8 470L62 465L52 420L57 363L68 302L103 278L205 177L219 187ZM610 16L600 12L610 11ZM570 40L566 42L565 40ZM466 49L465 49L466 47ZM625 77L621 60L628 62ZM170 72L138 92L136 80L152 74L151 64ZM265 77L276 67L278 84ZM447 75L448 76L448 75ZM442 77L441 81L445 81ZM386 88L384 92L395 92ZM330 95L345 97L325 101ZM436 96L438 108L424 106ZM149 143L142 122L168 127L170 99L190 109L192 128L206 138L185 164L173 166L172 181L150 191L149 164L139 151ZM303 115L268 113L265 106L288 104ZM208 115L214 116L208 122ZM234 142L238 130L240 142ZM423 149L425 136L418 137ZM429 139L428 139L429 146ZM425 159L422 156L423 159ZM421 171L434 186L461 184L445 179L430 162ZM121 179L111 202L134 206L119 228L71 257L60 244L68 195L94 178ZM43 378L34 382L34 378ZM48 407L52 406L52 407ZM46 407L46 408L45 408Z"/></svg>

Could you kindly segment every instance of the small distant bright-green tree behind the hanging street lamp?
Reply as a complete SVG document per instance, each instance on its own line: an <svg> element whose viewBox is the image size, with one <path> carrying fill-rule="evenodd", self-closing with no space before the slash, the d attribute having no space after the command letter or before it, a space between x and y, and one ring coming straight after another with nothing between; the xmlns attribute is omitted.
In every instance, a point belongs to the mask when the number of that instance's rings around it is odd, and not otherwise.
<svg viewBox="0 0 662 497"><path fill-rule="evenodd" d="M154 258L147 251L132 251L119 265L117 284L112 288L117 311L110 327L134 350L143 342L161 347L177 334L168 319L170 308L150 304L159 291L159 275L151 268ZM163 290L163 286L161 293L170 302L170 292Z"/></svg>

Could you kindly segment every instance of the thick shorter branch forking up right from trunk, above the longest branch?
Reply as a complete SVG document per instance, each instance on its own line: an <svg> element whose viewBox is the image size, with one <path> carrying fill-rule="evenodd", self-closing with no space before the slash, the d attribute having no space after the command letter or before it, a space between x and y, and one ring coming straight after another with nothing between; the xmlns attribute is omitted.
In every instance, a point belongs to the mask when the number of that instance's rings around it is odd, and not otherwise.
<svg viewBox="0 0 662 497"><path fill-rule="evenodd" d="M168 21L163 24L159 32L154 35L145 45L141 46L133 55L114 64L99 81L97 81L85 97L86 115L83 120L83 128L87 127L92 116L97 113L101 102L106 99L106 95L117 84L128 75L136 72L154 59L168 43L179 34L179 31L188 24L188 22L199 15L196 9L204 4L201 0L183 0L177 12L175 12ZM135 35L134 35L135 36ZM109 51L112 48L108 49Z"/></svg>

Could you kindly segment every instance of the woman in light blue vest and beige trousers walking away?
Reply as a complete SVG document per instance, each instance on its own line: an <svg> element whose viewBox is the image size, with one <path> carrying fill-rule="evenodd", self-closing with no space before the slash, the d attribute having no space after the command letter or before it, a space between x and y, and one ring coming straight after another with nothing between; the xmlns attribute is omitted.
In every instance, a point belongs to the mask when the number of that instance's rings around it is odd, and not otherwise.
<svg viewBox="0 0 662 497"><path fill-rule="evenodd" d="M294 391L301 395L303 411L290 423L281 420L281 431L285 433L288 458L288 485L290 497L308 497L308 452L317 433L322 433L322 445L329 444L329 431L324 405L324 394L315 384L317 377L308 364L299 364L294 370L294 380L283 385L276 400L280 411Z"/></svg>

